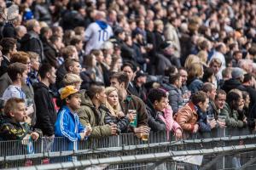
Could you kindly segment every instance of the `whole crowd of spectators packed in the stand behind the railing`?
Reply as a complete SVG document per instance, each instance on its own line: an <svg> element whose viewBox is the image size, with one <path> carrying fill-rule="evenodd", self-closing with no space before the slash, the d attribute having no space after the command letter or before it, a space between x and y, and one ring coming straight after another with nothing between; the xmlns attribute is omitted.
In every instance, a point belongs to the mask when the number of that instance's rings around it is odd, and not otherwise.
<svg viewBox="0 0 256 170"><path fill-rule="evenodd" d="M0 5L1 140L256 130L255 1Z"/></svg>

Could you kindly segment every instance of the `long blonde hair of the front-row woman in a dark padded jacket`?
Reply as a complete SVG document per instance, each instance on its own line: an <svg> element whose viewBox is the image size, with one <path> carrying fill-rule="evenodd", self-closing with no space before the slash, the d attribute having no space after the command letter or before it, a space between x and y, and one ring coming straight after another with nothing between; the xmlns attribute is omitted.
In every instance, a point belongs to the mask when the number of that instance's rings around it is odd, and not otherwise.
<svg viewBox="0 0 256 170"><path fill-rule="evenodd" d="M106 107L108 108L108 110L111 112L111 114L113 116L118 116L119 115L119 111L121 111L121 107L120 107L120 104L118 102L118 105L110 105L108 103L108 95L111 94L113 91L116 91L118 93L118 90L117 88L113 88L113 87L108 87L108 88L105 88L105 93L107 95L107 99L106 99Z"/></svg>

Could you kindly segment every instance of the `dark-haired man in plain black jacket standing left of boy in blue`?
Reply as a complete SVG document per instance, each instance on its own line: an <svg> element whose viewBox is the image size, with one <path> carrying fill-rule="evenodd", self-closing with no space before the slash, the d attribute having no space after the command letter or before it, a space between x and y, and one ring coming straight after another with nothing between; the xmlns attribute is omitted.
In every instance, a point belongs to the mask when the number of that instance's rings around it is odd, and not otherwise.
<svg viewBox="0 0 256 170"><path fill-rule="evenodd" d="M41 77L41 81L34 85L35 104L37 107L35 127L40 128L44 136L53 138L57 115L49 85L55 83L55 68L49 64L41 65L38 74Z"/></svg>

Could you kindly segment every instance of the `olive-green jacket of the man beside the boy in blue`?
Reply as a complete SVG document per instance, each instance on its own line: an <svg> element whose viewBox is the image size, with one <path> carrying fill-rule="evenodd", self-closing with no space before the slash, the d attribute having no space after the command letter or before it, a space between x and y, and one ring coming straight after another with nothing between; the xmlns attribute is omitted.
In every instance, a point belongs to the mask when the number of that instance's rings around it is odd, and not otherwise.
<svg viewBox="0 0 256 170"><path fill-rule="evenodd" d="M102 138L112 135L111 127L104 124L106 113L105 107L100 107L96 110L96 107L92 104L85 91L81 92L81 107L78 111L79 120L84 126L90 124L92 127L90 137Z"/></svg>

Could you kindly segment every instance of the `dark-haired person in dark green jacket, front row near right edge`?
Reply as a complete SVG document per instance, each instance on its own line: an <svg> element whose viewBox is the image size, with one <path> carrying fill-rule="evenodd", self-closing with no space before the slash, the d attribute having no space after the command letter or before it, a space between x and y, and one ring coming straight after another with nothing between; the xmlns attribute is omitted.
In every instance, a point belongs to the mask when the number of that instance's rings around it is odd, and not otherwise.
<svg viewBox="0 0 256 170"><path fill-rule="evenodd" d="M244 104L240 90L231 90L227 95L227 100L220 115L226 116L225 122L227 127L245 127L247 126L247 117L239 115Z"/></svg>

